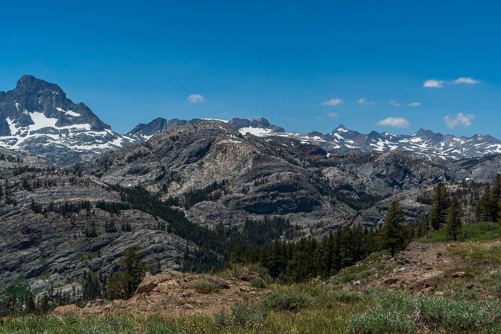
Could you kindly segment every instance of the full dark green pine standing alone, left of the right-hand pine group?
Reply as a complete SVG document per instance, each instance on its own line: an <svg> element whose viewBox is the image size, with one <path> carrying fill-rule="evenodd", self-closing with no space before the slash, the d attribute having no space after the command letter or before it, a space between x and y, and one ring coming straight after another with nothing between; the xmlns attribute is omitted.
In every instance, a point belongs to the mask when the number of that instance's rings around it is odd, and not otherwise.
<svg viewBox="0 0 501 334"><path fill-rule="evenodd" d="M388 249L391 256L404 246L404 211L400 208L400 203L393 201L386 213L385 223L379 230L379 245L383 249Z"/></svg>

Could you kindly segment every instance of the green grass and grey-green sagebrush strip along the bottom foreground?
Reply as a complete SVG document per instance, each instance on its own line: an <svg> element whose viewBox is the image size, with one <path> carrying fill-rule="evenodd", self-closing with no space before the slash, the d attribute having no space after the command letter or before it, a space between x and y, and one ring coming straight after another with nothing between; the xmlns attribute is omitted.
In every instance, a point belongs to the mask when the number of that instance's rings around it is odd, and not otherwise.
<svg viewBox="0 0 501 334"><path fill-rule="evenodd" d="M489 276L490 275L490 276ZM501 277L483 278L485 284ZM492 283L495 284L495 283ZM347 292L318 285L316 296L284 286L261 302L238 302L216 315L173 317L84 314L59 318L29 316L0 321L3 333L487 333L501 330L499 299L473 298L473 292L450 296L412 296L406 291L365 289ZM306 291L306 290L305 290ZM329 302L327 302L329 301Z"/></svg>

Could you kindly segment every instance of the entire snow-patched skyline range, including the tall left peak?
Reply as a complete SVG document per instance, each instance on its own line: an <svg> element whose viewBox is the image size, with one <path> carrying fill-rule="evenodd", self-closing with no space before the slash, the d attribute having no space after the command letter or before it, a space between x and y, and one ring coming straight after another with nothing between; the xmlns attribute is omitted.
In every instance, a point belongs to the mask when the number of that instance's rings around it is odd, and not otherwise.
<svg viewBox="0 0 501 334"><path fill-rule="evenodd" d="M56 84L27 75L18 81L15 89L0 91L0 146L37 154L59 166L88 160L130 143L145 142L169 127L205 120L208 119L157 118L121 135L112 131L84 103L73 103ZM300 134L286 132L265 118L221 121L242 135L290 137L339 154L399 149L431 160L458 160L501 153L501 141L488 135L455 137L424 129L413 135L376 131L366 135L343 125L327 134Z"/></svg>

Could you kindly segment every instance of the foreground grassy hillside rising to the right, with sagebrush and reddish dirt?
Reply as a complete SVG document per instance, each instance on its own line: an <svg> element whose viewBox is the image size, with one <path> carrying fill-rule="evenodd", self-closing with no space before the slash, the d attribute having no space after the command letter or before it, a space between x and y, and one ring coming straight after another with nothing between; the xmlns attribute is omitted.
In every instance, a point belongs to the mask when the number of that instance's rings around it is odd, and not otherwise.
<svg viewBox="0 0 501 334"><path fill-rule="evenodd" d="M491 333L501 331L501 243L459 243L442 246L440 254L423 248L433 259L436 288L415 293L411 284L371 286L364 272L378 279L395 278L409 268L374 253L329 282L312 278L304 283L251 283L270 291L259 302L241 293L230 309L215 315L165 314L80 315L4 318L0 333ZM436 248L433 248L436 249ZM410 253L409 253L410 254ZM430 260L431 261L431 260ZM442 265L442 266L440 266ZM363 268L364 270L362 270ZM416 267L415 270L426 271ZM405 272L403 270L402 272ZM457 272L462 272L455 275ZM375 277L375 276L374 276ZM357 281L362 281L361 283ZM402 281L403 282L403 281ZM360 285L359 285L360 284ZM217 292L216 292L217 293ZM180 303L180 305L187 304ZM181 308L182 309L182 308ZM137 311L137 310L136 310ZM135 313L137 314L137 313Z"/></svg>

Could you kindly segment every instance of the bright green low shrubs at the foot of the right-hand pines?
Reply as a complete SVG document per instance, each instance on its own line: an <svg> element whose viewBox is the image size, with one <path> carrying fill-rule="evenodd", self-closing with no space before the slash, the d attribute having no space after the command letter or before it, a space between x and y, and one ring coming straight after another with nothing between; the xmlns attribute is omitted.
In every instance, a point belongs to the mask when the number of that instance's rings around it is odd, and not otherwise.
<svg viewBox="0 0 501 334"><path fill-rule="evenodd" d="M462 235L464 236L464 232L466 231L466 224L462 224L461 231ZM499 225L498 223L480 221L478 223L468 224L468 232L464 241L484 242L494 240L496 238L499 238L500 236L501 225ZM445 229L442 228L438 231L430 229L430 231L428 232L428 237L424 236L417 239L416 241L427 243L454 242L450 235L447 241L446 239ZM456 242L459 242L459 240L457 240Z"/></svg>

